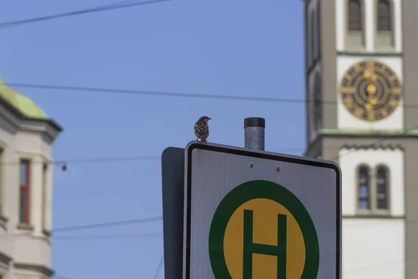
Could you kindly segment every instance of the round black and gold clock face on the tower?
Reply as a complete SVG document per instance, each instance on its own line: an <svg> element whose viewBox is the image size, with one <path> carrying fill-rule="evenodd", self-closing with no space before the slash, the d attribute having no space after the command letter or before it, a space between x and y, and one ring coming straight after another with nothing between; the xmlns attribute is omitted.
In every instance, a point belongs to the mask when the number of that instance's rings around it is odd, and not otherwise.
<svg viewBox="0 0 418 279"><path fill-rule="evenodd" d="M402 86L394 71L377 61L362 61L347 70L341 81L341 98L359 119L377 121L399 105Z"/></svg>

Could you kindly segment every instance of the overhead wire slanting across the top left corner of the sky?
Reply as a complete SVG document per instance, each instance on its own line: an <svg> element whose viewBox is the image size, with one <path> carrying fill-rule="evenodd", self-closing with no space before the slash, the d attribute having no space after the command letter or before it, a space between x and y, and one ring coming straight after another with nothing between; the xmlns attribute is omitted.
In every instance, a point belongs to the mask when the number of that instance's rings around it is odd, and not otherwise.
<svg viewBox="0 0 418 279"><path fill-rule="evenodd" d="M139 1L139 2L135 2L135 3L124 3L127 1L122 1L122 2L118 2L118 3L114 3L114 4L109 4L107 6L99 6L99 7L94 7L94 8L86 8L86 9L82 9L82 10L75 10L72 12L68 12L68 13L59 13L59 14L55 14L55 15L47 15L44 17L33 17L33 18L29 18L29 19L25 19L25 20L15 20L12 22L5 22L3 24L0 24L0 28L10 28L10 27L16 27L18 25L22 25L22 24L29 24L29 23L34 23L34 22L42 22L45 20L56 20L57 18L61 18L61 17L71 17L71 16L75 16L75 15L84 15L87 13L98 13L98 12L103 12L106 10L116 10L116 9L120 9L120 8L130 8L130 7L134 7L134 6L142 6L142 5L148 5L148 4L153 4L153 3L161 3L161 2L167 2L170 0L148 0L148 1ZM132 1L130 1L132 2Z"/></svg>

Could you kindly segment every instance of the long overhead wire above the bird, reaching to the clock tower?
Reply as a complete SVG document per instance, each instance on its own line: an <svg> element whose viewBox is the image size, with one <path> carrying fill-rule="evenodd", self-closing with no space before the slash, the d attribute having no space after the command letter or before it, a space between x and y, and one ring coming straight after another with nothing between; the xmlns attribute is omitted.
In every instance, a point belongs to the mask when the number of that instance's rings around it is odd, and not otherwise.
<svg viewBox="0 0 418 279"><path fill-rule="evenodd" d="M6 83L4 83L6 84ZM180 98L209 98L220 100L249 100L257 102L274 102L274 103L316 103L322 105L338 105L342 104L341 101L334 100L318 100L298 99L298 98L270 98L270 97L255 97L255 96L231 96L231 95L219 95L219 94L198 94L198 93L180 93L180 92L166 92L166 91L143 91L135 89L109 89L99 87L82 87L82 86L60 86L49 84L28 84L28 83L16 83L8 82L6 85L33 88L33 89L54 89L54 90L68 90L68 91L83 91L83 92L95 92L95 93L117 93L117 94L130 94L130 95L145 95L145 96L166 96L166 97L180 97ZM415 107L418 105L403 104L403 107Z"/></svg>

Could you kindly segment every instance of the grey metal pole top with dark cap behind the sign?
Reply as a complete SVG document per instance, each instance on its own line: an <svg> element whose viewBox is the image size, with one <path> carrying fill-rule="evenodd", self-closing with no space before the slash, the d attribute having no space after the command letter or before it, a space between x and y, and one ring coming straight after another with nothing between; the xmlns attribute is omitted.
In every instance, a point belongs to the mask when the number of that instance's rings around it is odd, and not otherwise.
<svg viewBox="0 0 418 279"><path fill-rule="evenodd" d="M245 148L264 150L265 119L249 117L244 119Z"/></svg>

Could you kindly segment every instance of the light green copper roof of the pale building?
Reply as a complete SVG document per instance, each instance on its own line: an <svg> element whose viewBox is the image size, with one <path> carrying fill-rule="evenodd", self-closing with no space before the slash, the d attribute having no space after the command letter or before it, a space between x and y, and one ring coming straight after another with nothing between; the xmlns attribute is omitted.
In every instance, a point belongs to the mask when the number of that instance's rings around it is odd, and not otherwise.
<svg viewBox="0 0 418 279"><path fill-rule="evenodd" d="M24 96L9 86L7 86L0 77L0 98L13 105L24 116L32 119L48 119L47 114L30 98Z"/></svg>

